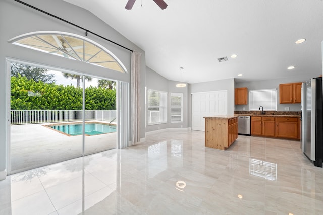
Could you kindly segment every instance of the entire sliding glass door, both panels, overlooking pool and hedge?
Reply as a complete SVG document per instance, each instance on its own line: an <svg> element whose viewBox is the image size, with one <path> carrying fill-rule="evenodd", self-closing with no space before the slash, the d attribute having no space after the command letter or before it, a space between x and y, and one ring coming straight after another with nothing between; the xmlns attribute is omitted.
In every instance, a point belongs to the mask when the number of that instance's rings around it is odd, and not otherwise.
<svg viewBox="0 0 323 215"><path fill-rule="evenodd" d="M116 89L106 82L11 63L10 173L116 148Z"/></svg>

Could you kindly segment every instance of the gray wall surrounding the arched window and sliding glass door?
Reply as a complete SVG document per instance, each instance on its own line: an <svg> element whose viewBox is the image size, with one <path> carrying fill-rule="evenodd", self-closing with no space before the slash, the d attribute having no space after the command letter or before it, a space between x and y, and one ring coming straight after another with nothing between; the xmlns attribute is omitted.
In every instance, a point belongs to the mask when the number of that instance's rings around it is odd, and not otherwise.
<svg viewBox="0 0 323 215"><path fill-rule="evenodd" d="M142 53L141 55L141 93L144 94L145 86L145 52L115 31L109 25L95 17L90 12L71 5L61 0L26 0L26 3L89 29L96 34L106 37L130 49L135 49ZM45 54L39 51L16 46L8 42L8 40L30 32L36 31L61 31L74 33L85 36L85 32L73 27L58 19L49 17L41 12L24 6L12 0L0 1L0 174L6 169L6 152L7 152L7 96L10 91L7 90L6 80L10 76L6 70L6 58L18 59L21 61L53 66L69 71L78 71L80 73L108 78L112 80L120 80L130 82L131 54L130 51L118 47L106 40L100 39L94 35L88 34L87 38L91 39L114 53L125 65L128 73L119 73L99 66L66 59L63 57ZM144 107L144 97L140 101L141 107ZM129 106L130 109L130 106ZM144 109L141 110L144 116ZM9 116L9 114L8 114ZM131 116L129 116L129 120ZM144 121L144 117L142 119ZM145 135L144 123L141 125L141 137ZM1 175L0 175L1 177Z"/></svg>

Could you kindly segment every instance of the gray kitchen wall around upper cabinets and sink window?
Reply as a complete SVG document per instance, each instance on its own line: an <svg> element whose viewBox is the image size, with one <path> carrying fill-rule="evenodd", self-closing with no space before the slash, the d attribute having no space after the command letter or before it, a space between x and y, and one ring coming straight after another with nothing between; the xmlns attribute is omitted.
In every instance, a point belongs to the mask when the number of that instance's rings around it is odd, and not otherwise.
<svg viewBox="0 0 323 215"><path fill-rule="evenodd" d="M308 77L310 79L312 77ZM285 111L285 107L289 107L289 111L300 111L300 104L280 104L279 103L279 85L285 83L294 83L294 82L305 82L307 80L301 80L299 78L288 78L288 79L273 79L273 80L264 80L264 81L254 81L254 82L237 82L235 84L236 88L247 87L248 88L248 104L247 105L235 105L236 111L249 111L249 91L250 90L261 90L261 89L277 89L277 111Z"/></svg>

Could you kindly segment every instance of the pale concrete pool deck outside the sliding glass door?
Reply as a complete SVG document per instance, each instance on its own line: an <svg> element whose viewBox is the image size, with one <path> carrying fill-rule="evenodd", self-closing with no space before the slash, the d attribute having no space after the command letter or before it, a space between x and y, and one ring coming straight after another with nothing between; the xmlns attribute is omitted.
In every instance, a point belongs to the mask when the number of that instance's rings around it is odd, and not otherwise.
<svg viewBox="0 0 323 215"><path fill-rule="evenodd" d="M43 125L48 124L10 126L11 173L82 156L82 135L67 136ZM85 155L116 146L116 132L85 136Z"/></svg>

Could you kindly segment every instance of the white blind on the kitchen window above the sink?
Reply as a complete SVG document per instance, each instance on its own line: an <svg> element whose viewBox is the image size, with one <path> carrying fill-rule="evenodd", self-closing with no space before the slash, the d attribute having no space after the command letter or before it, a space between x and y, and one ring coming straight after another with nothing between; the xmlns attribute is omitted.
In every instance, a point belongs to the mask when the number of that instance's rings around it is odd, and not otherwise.
<svg viewBox="0 0 323 215"><path fill-rule="evenodd" d="M250 110L277 110L277 93L276 89L250 90Z"/></svg>

